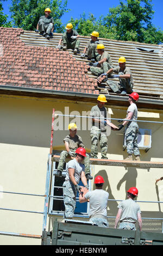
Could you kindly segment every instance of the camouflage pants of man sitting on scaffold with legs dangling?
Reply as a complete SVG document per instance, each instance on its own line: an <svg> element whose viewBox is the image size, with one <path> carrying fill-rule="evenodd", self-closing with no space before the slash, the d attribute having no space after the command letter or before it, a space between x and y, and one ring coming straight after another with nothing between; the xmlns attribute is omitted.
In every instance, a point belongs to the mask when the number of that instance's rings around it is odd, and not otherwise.
<svg viewBox="0 0 163 256"><path fill-rule="evenodd" d="M74 152L74 156L75 156L76 150L71 150L71 151ZM67 156L69 156L67 151L64 150L61 152L57 170L60 170L62 172L62 170L64 169L64 164L65 164ZM85 165L85 174L90 173L90 168L91 168L90 167L90 157L88 154L86 154L86 157L84 157L84 165Z"/></svg>

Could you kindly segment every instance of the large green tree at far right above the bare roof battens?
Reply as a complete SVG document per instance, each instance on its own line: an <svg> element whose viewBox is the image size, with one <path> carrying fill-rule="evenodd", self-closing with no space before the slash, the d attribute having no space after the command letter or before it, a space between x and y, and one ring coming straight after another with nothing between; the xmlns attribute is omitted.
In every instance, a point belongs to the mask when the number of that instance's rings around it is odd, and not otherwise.
<svg viewBox="0 0 163 256"><path fill-rule="evenodd" d="M151 0L120 1L116 8L110 8L103 17L103 25L114 29L115 39L158 44L163 40L162 31L152 25L154 11Z"/></svg>

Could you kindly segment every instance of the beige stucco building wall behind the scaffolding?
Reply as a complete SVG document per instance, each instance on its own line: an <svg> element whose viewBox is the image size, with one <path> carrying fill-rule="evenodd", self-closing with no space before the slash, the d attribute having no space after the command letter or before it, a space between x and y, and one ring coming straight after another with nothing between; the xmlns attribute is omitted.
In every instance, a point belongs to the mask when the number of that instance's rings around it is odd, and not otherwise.
<svg viewBox="0 0 163 256"><path fill-rule="evenodd" d="M72 111L90 111L92 103L70 102L55 99L36 99L29 97L1 96L0 101L0 152L1 152L1 191L45 194L47 158L49 154L52 109L65 114L77 114ZM128 106L128 103L127 103ZM125 118L126 108L111 108L112 118ZM139 109L145 111L145 109ZM148 110L150 112L150 109ZM67 113L66 113L67 114ZM142 115L142 114L141 114ZM155 111L150 117L139 120L163 121L162 113ZM59 119L58 119L59 120ZM60 119L61 120L61 119ZM65 118L63 118L65 121ZM80 119L79 119L80 120ZM78 120L78 121L79 121ZM74 118L67 119L66 123L76 121ZM55 119L57 122L57 119ZM117 121L112 121L116 125ZM59 123L55 123L58 125ZM64 122L65 125L65 122ZM78 123L79 126L79 123ZM141 150L143 161L163 161L162 157L162 125L161 124L139 124L141 128L152 129L152 148L145 153ZM66 126L67 127L67 126ZM54 149L63 149L63 138L68 130L54 130ZM78 130L82 136L87 151L90 151L90 132ZM122 150L123 131L111 131L108 137L108 157L114 160L123 160L127 153ZM100 149L99 149L100 151ZM99 158L101 154L99 153ZM162 176L161 169L140 169L125 167L94 166L92 174L104 176L104 189L109 192L110 199L122 200L126 198L126 190L130 186L139 189L137 200L157 201L163 200L162 181L155 186L155 179ZM93 184L92 184L93 186ZM34 196L23 196L17 194L0 193L1 208L18 209L27 211L43 212L44 198ZM109 202L108 216L115 216L118 202ZM140 203L142 217L162 217L162 204ZM42 234L42 214L0 210L0 231ZM51 230L52 220L47 220L47 229ZM114 221L110 220L110 223ZM150 222L151 223L151 222ZM161 222L158 223L160 231ZM146 229L146 223L144 229ZM152 225L151 225L152 227ZM155 224L155 231L157 225ZM149 229L149 228L148 228ZM0 235L1 245L40 245L39 239L26 239L22 237Z"/></svg>

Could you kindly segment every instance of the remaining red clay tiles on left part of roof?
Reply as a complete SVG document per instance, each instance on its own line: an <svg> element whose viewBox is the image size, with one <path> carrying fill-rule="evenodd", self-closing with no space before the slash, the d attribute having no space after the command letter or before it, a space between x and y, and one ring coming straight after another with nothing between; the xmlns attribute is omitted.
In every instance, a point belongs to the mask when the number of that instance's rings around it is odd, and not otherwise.
<svg viewBox="0 0 163 256"><path fill-rule="evenodd" d="M28 46L23 29L0 28L0 85L98 94L86 63L70 52L52 47Z"/></svg>

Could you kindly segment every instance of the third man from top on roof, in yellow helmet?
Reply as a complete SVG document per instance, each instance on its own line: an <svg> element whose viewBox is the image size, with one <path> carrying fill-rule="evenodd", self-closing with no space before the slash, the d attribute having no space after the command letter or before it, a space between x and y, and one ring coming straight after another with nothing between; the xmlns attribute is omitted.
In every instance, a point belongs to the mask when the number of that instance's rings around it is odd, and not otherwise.
<svg viewBox="0 0 163 256"><path fill-rule="evenodd" d="M81 58L85 58L86 56L86 51L87 51L87 59L91 60L91 62L95 62L97 61L97 56L98 56L98 52L97 52L97 45L98 44L102 44L101 41L98 40L99 37L99 33L96 31L93 31L91 35L91 40L89 40L87 42L87 45L84 48L84 51L82 53L82 55L80 56Z"/></svg>

